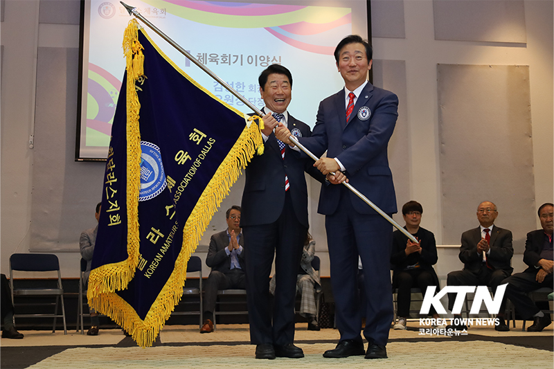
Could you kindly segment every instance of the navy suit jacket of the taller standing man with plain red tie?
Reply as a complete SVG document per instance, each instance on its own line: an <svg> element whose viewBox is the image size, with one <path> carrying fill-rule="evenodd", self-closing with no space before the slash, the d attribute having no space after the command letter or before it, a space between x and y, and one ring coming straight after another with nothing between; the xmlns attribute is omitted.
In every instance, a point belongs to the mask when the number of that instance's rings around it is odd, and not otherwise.
<svg viewBox="0 0 554 369"><path fill-rule="evenodd" d="M369 109L365 118L359 112ZM316 156L328 150L346 168L350 184L385 213L396 213L393 174L388 168L387 146L398 116L398 98L391 91L373 87L369 82L357 98L350 120L346 121L344 89L319 104L317 122L310 138L300 138ZM321 187L318 212L331 215L337 210L341 186ZM350 192L352 206L360 214L375 214L364 201Z"/></svg>

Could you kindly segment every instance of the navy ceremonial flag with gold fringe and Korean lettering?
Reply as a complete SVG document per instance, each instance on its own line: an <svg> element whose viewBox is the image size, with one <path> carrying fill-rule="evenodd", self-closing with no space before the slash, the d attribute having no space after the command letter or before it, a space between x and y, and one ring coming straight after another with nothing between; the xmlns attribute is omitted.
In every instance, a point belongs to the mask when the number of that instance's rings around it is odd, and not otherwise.
<svg viewBox="0 0 554 369"><path fill-rule="evenodd" d="M123 50L88 298L144 347L179 303L188 259L262 137L134 19Z"/></svg>

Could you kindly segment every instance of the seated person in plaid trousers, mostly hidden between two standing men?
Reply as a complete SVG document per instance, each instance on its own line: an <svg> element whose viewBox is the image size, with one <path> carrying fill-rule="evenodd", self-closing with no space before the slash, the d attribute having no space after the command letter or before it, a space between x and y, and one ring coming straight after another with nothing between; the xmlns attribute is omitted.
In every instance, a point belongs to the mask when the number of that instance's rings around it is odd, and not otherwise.
<svg viewBox="0 0 554 369"><path fill-rule="evenodd" d="M316 319L316 292L321 291L321 280L312 267L312 260L316 251L316 242L312 240L312 235L306 233L304 249L302 251L302 260L298 269L296 279L296 291L301 293L300 315L307 318L307 330L319 330L319 323ZM273 276L269 283L269 292L275 294L276 278Z"/></svg>

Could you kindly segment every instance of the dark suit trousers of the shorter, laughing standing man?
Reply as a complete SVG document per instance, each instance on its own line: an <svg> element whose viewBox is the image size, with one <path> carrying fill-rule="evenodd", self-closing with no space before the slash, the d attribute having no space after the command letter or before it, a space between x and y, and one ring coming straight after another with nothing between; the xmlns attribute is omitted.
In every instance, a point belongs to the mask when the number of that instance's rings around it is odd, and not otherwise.
<svg viewBox="0 0 554 369"><path fill-rule="evenodd" d="M289 192L280 216L271 224L243 226L247 264L247 300L250 341L253 345L286 345L294 341L296 276L307 228L294 213ZM275 255L276 283L273 314L269 274ZM271 324L273 318L273 325Z"/></svg>

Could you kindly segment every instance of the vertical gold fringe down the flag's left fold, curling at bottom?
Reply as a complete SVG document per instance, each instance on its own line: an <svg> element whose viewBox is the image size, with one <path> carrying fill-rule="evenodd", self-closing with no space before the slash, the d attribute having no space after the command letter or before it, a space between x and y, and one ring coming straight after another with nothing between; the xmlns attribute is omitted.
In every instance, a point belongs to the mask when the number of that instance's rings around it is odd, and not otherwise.
<svg viewBox="0 0 554 369"><path fill-rule="evenodd" d="M87 298L126 289L139 264L139 187L141 185L141 103L135 82L144 74L143 46L139 42L139 23L131 19L123 36L127 70L127 260L93 269L89 276Z"/></svg>

